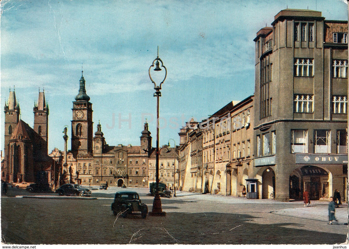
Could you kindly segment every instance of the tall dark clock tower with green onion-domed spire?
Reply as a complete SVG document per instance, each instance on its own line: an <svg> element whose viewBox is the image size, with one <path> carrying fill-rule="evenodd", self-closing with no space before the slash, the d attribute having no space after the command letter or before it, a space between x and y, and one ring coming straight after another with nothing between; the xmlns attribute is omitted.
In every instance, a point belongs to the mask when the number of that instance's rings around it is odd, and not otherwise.
<svg viewBox="0 0 349 249"><path fill-rule="evenodd" d="M92 155L93 111L89 100L81 71L79 94L75 96L72 109L72 153L75 158L77 155Z"/></svg>

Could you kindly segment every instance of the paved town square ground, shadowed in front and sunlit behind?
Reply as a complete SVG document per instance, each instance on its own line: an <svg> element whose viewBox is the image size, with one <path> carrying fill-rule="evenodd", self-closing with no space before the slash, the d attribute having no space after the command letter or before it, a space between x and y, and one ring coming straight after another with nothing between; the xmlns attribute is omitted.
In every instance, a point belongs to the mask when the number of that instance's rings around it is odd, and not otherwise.
<svg viewBox="0 0 349 249"><path fill-rule="evenodd" d="M93 187L92 187L93 188ZM348 206L328 225L326 201L279 202L178 192L161 198L165 217L112 214L116 191L137 191L151 211L147 188L92 190L96 199L23 198L10 188L1 198L2 243L14 244L335 244L346 242Z"/></svg>

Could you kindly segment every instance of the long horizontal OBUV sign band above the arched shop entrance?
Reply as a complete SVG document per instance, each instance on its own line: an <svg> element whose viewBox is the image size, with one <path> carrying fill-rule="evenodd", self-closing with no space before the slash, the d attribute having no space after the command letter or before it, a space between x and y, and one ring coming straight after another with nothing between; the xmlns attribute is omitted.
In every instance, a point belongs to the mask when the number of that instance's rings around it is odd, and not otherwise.
<svg viewBox="0 0 349 249"><path fill-rule="evenodd" d="M339 154L306 154L296 155L296 163L300 164L342 164L348 163L348 155Z"/></svg>

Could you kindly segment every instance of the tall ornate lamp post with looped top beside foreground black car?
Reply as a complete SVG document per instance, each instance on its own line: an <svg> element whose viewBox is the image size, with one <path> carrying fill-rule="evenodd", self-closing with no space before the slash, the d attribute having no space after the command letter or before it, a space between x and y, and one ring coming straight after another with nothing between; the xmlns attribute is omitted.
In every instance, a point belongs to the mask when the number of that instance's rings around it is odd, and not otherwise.
<svg viewBox="0 0 349 249"><path fill-rule="evenodd" d="M154 63L155 63L155 69L154 71L161 71L162 69L160 68L160 62L161 62L161 67L163 67L165 69L165 77L164 79L161 81L160 85L157 86L156 83L154 82L153 78L151 78L150 75L150 69L152 67L154 67ZM159 97L161 97L161 85L162 83L164 83L165 79L166 79L166 75L167 75L167 70L166 67L164 66L162 60L159 58L159 47L157 47L157 57L154 59L153 63L151 63L151 66L149 67L148 70L149 73L149 78L151 80L151 82L154 84L154 97L156 97L156 151L155 151L155 155L156 155L156 190L155 190L155 197L154 197L154 201L153 201L153 210L151 212L149 212L149 215L153 215L153 216L165 216L166 212L162 211L162 207L161 207L161 200L160 200L160 195L159 195Z"/></svg>

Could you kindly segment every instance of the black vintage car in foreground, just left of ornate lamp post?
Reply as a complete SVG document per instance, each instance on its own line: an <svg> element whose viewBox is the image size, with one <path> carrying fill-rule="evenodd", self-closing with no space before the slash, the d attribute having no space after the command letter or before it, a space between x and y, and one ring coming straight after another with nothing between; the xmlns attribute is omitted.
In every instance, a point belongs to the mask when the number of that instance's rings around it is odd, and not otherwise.
<svg viewBox="0 0 349 249"><path fill-rule="evenodd" d="M120 214L124 218L127 215L141 215L145 219L148 215L148 206L141 202L137 192L117 192L111 210L114 215Z"/></svg>

